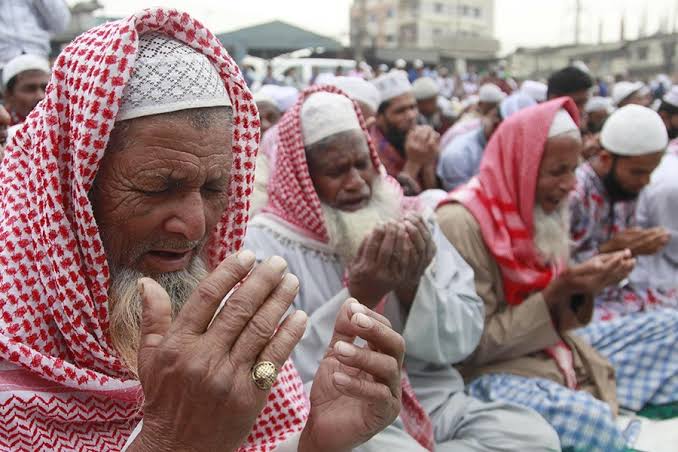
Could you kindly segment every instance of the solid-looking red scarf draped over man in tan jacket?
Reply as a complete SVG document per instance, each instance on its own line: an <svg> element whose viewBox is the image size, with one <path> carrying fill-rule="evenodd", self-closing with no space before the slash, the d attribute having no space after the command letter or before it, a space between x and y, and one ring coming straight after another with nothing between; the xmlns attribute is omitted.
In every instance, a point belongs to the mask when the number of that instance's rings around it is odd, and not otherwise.
<svg viewBox="0 0 678 452"><path fill-rule="evenodd" d="M475 217L501 269L504 297L510 305L519 305L545 289L564 268L542 263L533 224L539 166L548 130L561 108L579 123L579 112L569 97L527 108L504 121L487 144L478 175L441 203L461 203ZM546 351L567 386L575 387L569 347L561 341Z"/></svg>

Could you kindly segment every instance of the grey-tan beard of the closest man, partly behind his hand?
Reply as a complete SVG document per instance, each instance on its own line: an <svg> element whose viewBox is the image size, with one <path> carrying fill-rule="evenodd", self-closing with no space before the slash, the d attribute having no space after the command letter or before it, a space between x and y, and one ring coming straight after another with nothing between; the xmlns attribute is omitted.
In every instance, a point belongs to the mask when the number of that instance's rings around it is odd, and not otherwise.
<svg viewBox="0 0 678 452"><path fill-rule="evenodd" d="M137 289L137 280L144 276L131 268L111 266L111 284L108 291L111 341L120 359L135 377L138 377L137 352L141 333L141 296ZM206 276L207 268L204 261L200 257L195 257L185 270L153 277L169 295L172 319Z"/></svg>

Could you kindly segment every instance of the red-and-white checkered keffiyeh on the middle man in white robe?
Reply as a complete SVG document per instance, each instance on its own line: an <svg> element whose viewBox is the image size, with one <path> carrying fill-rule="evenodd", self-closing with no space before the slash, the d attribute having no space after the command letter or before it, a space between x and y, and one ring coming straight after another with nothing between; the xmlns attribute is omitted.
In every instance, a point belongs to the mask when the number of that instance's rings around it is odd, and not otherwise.
<svg viewBox="0 0 678 452"><path fill-rule="evenodd" d="M277 124L278 142L275 166L271 168L271 179L268 185L268 205L264 211L283 219L308 234L309 237L327 243L329 236L325 227L320 198L318 198L308 171L304 137L301 129L301 107L309 96L320 91L348 97L346 93L335 86L313 86L303 91L294 107L283 115ZM365 126L360 108L355 102L353 102L353 107L358 116L360 127L367 138L372 165L380 177L384 178L386 183L390 183L400 190L400 185L390 176L386 175L384 166L379 160L377 151ZM399 193L403 211L420 209L416 199L406 198L402 195L402 190ZM400 417L405 425L405 429L422 446L428 450L433 450L434 439L431 419L417 400L407 374L404 371L401 383L402 410Z"/></svg>

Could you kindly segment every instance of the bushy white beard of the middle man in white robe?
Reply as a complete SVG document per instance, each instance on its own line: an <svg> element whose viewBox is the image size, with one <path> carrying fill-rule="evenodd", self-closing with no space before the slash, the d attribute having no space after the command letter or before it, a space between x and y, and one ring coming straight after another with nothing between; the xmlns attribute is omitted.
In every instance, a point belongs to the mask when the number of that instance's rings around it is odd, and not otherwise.
<svg viewBox="0 0 678 452"><path fill-rule="evenodd" d="M400 218L401 197L398 187L377 178L372 185L372 197L362 209L347 212L323 204L330 247L344 262L353 260L365 237L379 223Z"/></svg>

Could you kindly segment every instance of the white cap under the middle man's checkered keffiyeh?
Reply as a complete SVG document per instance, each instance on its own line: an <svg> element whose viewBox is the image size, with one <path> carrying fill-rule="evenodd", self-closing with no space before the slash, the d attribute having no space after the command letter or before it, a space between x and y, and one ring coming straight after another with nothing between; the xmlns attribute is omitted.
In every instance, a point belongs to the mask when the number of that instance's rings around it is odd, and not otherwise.
<svg viewBox="0 0 678 452"><path fill-rule="evenodd" d="M341 94L317 92L301 107L301 132L304 146L347 130L362 130L353 102Z"/></svg>

